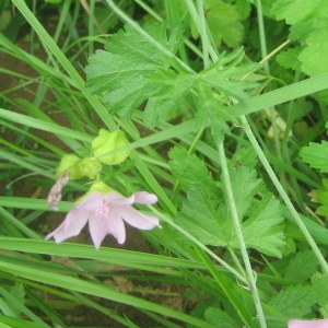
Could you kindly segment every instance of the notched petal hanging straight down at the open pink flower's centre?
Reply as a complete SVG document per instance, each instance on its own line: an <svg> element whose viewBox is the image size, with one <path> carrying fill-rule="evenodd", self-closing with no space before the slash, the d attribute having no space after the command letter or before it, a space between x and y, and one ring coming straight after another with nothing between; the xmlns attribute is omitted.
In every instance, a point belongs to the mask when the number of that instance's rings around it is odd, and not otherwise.
<svg viewBox="0 0 328 328"><path fill-rule="evenodd" d="M96 248L101 247L101 244L107 234L113 235L119 244L124 244L126 241L125 224L112 208L106 218L91 218L89 220L89 229Z"/></svg>

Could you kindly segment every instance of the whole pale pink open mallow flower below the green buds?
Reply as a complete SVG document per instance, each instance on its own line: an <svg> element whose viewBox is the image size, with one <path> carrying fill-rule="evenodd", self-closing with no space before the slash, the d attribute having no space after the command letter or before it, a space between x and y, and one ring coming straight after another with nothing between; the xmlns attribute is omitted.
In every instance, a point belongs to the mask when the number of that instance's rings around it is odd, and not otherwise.
<svg viewBox="0 0 328 328"><path fill-rule="evenodd" d="M125 223L141 229L151 230L161 227L159 219L149 216L133 209L133 203L151 204L157 201L157 197L147 191L139 191L126 198L116 191L106 195L91 191L81 202L71 209L63 222L46 239L55 238L56 243L79 235L83 226L89 222L89 230L96 248L101 247L107 234L113 235L119 244L126 241Z"/></svg>

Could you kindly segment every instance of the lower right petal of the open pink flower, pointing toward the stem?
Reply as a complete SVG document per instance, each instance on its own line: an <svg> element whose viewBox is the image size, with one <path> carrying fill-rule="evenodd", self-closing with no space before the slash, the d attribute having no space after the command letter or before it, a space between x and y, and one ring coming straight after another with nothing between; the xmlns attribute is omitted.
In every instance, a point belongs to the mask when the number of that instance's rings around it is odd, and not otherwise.
<svg viewBox="0 0 328 328"><path fill-rule="evenodd" d="M110 209L112 210L112 209ZM161 227L159 219L155 216L145 215L129 206L120 207L117 209L119 211L120 216L130 225L142 229L142 230L151 230L155 226Z"/></svg>

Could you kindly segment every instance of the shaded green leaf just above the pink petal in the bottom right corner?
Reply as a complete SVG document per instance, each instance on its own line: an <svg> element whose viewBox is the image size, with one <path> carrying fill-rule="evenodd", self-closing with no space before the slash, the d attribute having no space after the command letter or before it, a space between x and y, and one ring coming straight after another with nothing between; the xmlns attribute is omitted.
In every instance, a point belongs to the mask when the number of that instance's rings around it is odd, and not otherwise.
<svg viewBox="0 0 328 328"><path fill-rule="evenodd" d="M316 304L316 294L311 285L292 285L272 296L269 305L279 314L291 318L303 317Z"/></svg>

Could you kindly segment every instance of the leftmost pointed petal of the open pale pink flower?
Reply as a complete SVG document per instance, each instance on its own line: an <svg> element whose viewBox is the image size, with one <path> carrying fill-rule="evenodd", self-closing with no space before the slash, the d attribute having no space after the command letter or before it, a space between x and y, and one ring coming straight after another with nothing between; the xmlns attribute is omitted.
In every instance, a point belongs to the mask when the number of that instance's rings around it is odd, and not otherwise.
<svg viewBox="0 0 328 328"><path fill-rule="evenodd" d="M46 239L54 237L58 244L65 239L79 235L90 215L90 211L73 208L68 212L62 223L46 236Z"/></svg>

